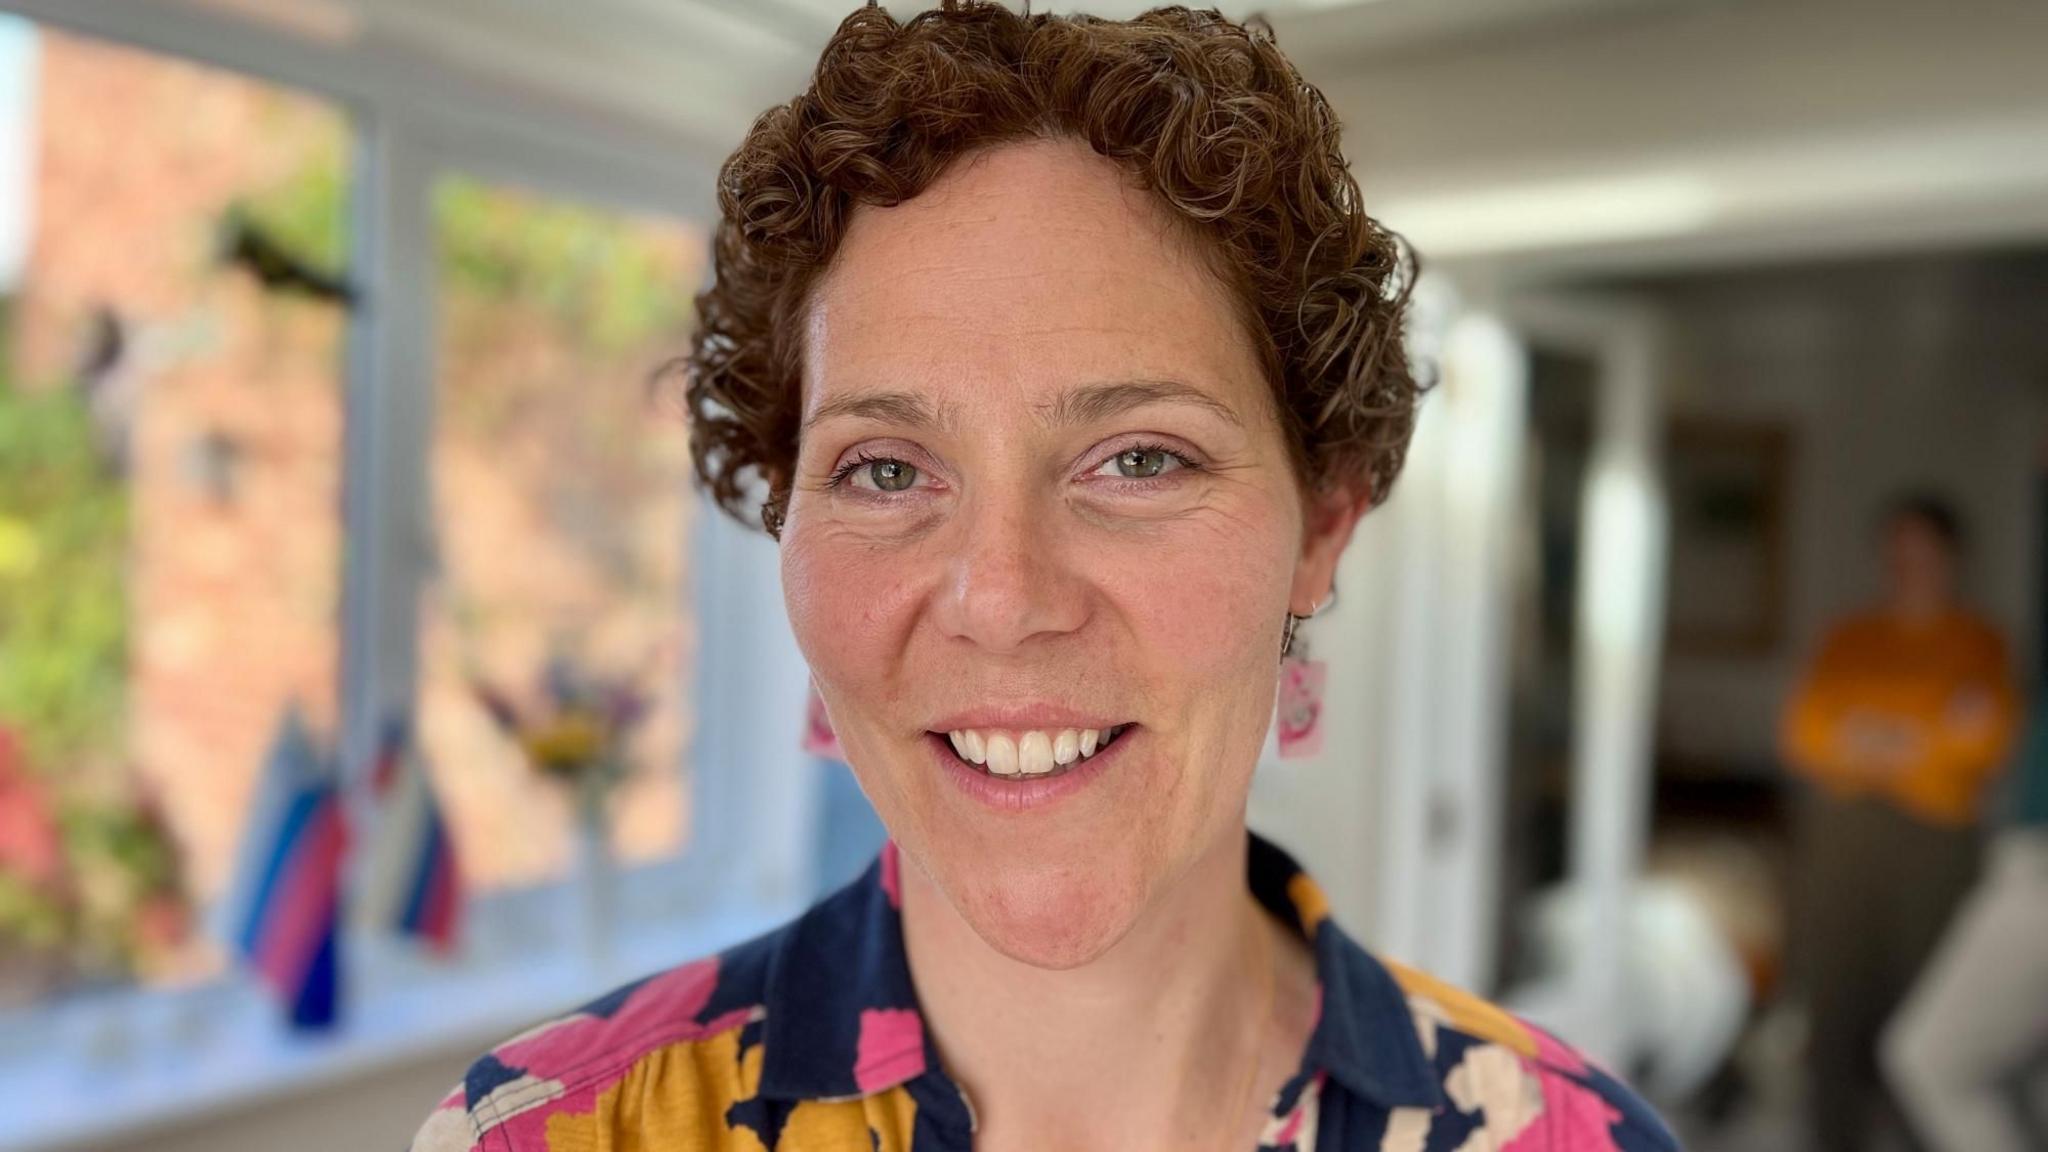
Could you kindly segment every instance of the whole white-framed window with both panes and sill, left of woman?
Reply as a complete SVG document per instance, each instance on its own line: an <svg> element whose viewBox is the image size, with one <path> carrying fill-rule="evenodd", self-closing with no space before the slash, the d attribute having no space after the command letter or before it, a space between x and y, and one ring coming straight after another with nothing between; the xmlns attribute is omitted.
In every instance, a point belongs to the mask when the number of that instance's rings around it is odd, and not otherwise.
<svg viewBox="0 0 2048 1152"><path fill-rule="evenodd" d="M98 1146L504 1035L786 918L805 670L774 549L698 512L655 377L705 236L586 203L680 203L700 158L459 70L414 84L377 37L276 51L193 6L31 8L328 98L0 16L0 1144ZM725 674L694 674L700 635ZM616 886L479 701L551 664L643 697L610 842L659 865ZM285 711L367 742L391 699L471 947L350 931L340 1027L305 1043L203 914ZM786 748L754 740L782 724ZM369 765L346 779L375 832Z"/></svg>

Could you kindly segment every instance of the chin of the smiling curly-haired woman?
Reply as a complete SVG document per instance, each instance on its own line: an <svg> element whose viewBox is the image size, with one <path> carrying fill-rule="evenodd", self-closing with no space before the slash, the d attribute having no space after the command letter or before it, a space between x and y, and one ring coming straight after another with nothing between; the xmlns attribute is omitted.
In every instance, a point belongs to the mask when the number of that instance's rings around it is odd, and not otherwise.
<svg viewBox="0 0 2048 1152"><path fill-rule="evenodd" d="M1116 947L1145 910L1143 883L1100 865L969 859L940 865L934 879L985 945L1018 963L1067 970Z"/></svg>

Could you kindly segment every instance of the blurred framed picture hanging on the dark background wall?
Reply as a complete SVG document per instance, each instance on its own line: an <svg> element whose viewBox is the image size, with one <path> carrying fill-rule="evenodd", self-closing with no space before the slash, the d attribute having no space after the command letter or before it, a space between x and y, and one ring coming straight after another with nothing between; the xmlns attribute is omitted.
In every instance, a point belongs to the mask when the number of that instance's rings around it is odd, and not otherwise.
<svg viewBox="0 0 2048 1152"><path fill-rule="evenodd" d="M1784 424L1675 416L1669 646L1683 656L1767 656L1786 627L1792 433Z"/></svg>

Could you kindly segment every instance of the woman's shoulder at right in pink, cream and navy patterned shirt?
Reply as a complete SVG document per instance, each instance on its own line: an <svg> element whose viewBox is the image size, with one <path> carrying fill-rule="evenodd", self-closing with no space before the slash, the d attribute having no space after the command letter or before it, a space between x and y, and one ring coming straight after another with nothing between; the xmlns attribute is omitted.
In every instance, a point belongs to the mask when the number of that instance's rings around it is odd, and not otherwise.
<svg viewBox="0 0 2048 1152"><path fill-rule="evenodd" d="M1434 976L1382 963L1407 996L1423 1058L1450 1105L1432 1127L1462 1134L1444 1148L1677 1152L1657 1111L1571 1045ZM1491 1142L1462 1144L1479 1132Z"/></svg>

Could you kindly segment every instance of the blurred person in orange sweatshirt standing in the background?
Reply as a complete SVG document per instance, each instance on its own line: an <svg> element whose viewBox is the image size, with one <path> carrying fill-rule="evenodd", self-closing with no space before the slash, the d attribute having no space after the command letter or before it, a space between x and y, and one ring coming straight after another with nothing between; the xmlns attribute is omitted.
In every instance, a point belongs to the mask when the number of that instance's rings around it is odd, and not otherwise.
<svg viewBox="0 0 2048 1152"><path fill-rule="evenodd" d="M1962 525L1939 498L1882 523L1886 592L1835 625L1784 715L1815 787L1796 941L1821 1148L1862 1152L1888 1099L1878 1039L1976 879L1978 816L2015 717L2005 640L1958 592Z"/></svg>

